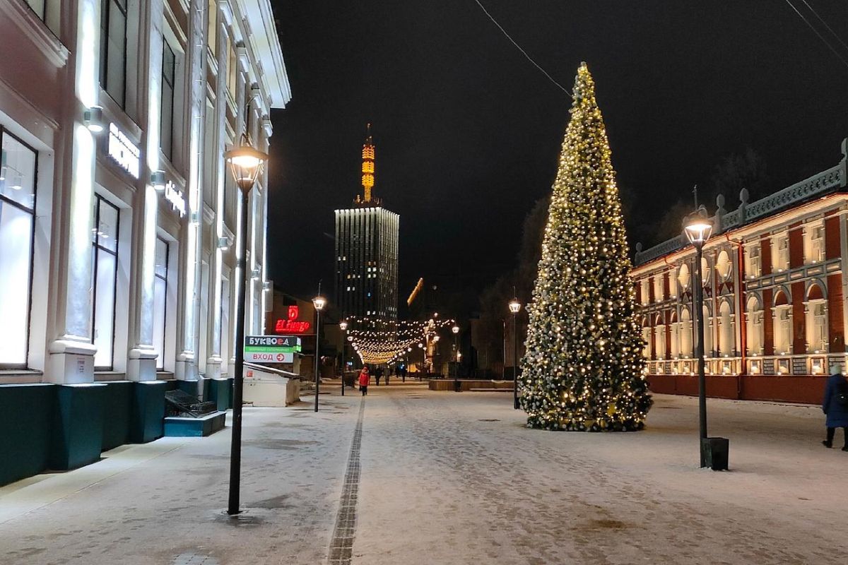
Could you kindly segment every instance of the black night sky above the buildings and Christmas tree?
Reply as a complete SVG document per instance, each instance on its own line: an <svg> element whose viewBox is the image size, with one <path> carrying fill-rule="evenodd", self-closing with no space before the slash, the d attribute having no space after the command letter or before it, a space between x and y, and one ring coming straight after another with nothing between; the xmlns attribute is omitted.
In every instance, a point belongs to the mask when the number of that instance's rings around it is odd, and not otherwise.
<svg viewBox="0 0 848 565"><path fill-rule="evenodd" d="M807 2L848 42L848 3ZM589 64L632 241L656 243L667 208L747 147L769 191L840 160L848 67L784 0L483 4L569 91ZM399 296L418 277L479 289L512 268L522 219L555 176L566 94L474 0L275 9L293 99L272 116L270 278L306 297L323 279L332 296L333 209L361 190L366 122L375 194L400 214Z"/></svg>

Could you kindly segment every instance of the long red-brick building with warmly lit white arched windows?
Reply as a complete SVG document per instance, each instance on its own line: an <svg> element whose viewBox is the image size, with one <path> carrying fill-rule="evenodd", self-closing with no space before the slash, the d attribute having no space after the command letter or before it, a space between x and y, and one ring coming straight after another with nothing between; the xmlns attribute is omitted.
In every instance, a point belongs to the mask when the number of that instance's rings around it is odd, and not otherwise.
<svg viewBox="0 0 848 565"><path fill-rule="evenodd" d="M701 262L707 394L820 402L845 370L848 285L846 153L834 167L727 212L717 198ZM642 250L633 280L653 391L697 393L692 284L685 235Z"/></svg>

